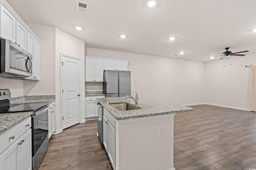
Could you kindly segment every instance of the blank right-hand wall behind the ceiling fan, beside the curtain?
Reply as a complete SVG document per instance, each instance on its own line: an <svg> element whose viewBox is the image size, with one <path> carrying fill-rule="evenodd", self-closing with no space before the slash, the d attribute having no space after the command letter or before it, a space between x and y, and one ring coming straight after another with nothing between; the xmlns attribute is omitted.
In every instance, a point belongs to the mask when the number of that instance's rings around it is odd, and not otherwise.
<svg viewBox="0 0 256 170"><path fill-rule="evenodd" d="M216 60L206 63L206 103L250 109L251 68L256 64L256 55L233 57L231 60ZM237 100L238 103L237 103Z"/></svg>

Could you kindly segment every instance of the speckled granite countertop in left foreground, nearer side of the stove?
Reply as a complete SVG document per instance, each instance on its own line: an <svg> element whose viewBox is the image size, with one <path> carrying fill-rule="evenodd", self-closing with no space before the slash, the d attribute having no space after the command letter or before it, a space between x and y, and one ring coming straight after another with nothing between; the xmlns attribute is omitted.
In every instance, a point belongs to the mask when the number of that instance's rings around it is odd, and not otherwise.
<svg viewBox="0 0 256 170"><path fill-rule="evenodd" d="M33 111L0 114L0 135L33 114Z"/></svg>

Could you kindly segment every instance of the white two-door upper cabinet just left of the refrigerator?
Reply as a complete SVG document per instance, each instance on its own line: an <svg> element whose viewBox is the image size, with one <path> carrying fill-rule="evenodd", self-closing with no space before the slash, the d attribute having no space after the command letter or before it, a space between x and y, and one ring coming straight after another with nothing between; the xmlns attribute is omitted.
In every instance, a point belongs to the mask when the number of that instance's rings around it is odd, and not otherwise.
<svg viewBox="0 0 256 170"><path fill-rule="evenodd" d="M103 59L85 58L85 81L103 82Z"/></svg>

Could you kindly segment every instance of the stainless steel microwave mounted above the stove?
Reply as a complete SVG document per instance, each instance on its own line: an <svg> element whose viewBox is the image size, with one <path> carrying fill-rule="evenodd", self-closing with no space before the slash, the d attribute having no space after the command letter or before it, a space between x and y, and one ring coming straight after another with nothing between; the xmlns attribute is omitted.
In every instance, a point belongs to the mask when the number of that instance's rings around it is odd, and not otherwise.
<svg viewBox="0 0 256 170"><path fill-rule="evenodd" d="M32 76L32 54L8 39L0 39L0 77Z"/></svg>

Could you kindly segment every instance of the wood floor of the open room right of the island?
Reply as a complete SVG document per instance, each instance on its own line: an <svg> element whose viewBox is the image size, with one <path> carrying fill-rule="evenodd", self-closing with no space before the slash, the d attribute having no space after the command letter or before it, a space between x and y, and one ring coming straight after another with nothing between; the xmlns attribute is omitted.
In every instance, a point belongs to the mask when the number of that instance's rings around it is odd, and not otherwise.
<svg viewBox="0 0 256 170"><path fill-rule="evenodd" d="M256 113L190 106L174 116L176 170L256 169Z"/></svg>

